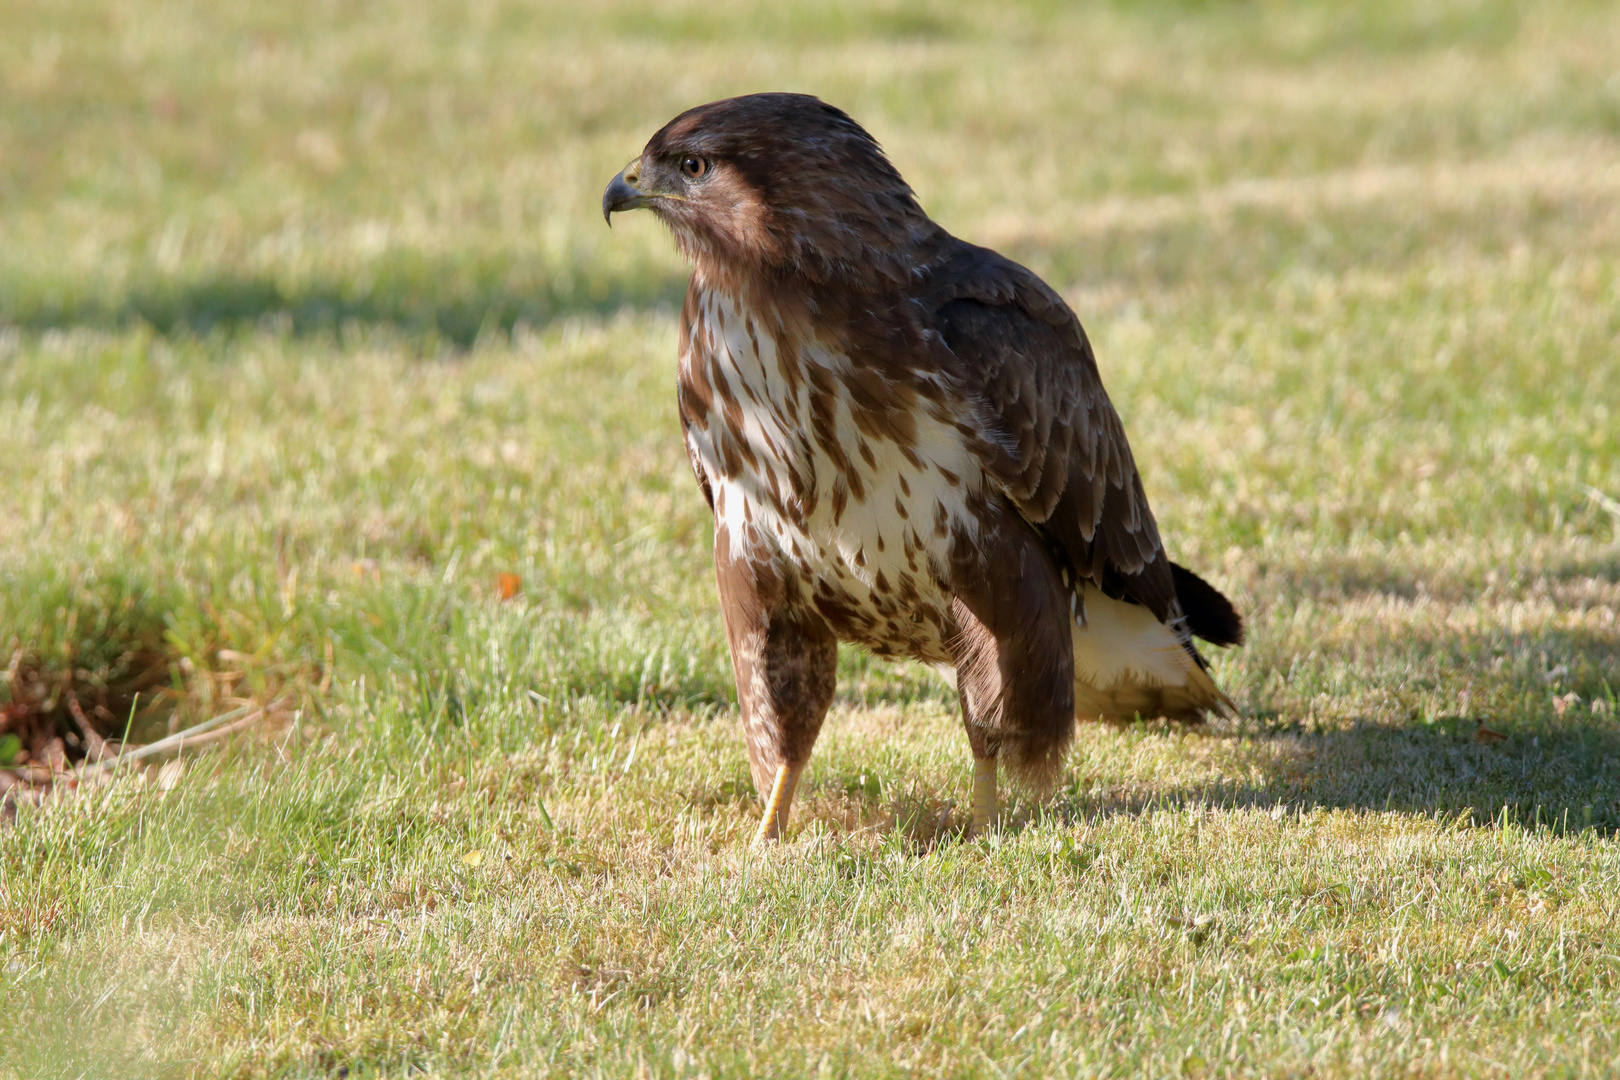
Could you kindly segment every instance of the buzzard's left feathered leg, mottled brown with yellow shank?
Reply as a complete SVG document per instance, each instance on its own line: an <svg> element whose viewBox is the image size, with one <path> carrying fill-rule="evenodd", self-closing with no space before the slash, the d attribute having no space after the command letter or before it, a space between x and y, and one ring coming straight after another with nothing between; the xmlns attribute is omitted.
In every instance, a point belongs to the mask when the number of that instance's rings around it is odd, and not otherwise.
<svg viewBox="0 0 1620 1080"><path fill-rule="evenodd" d="M810 761L838 678L838 638L815 614L791 609L774 572L732 557L724 531L714 538L731 664L748 742L753 787L765 801L755 844L787 829L794 789Z"/></svg>

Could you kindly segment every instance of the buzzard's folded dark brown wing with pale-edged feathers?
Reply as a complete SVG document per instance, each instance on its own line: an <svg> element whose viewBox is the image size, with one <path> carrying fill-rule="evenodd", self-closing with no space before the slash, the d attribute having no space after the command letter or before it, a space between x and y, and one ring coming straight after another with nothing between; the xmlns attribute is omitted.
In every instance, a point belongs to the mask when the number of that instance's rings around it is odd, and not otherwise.
<svg viewBox="0 0 1620 1080"><path fill-rule="evenodd" d="M1063 298L1011 259L957 241L930 267L920 301L1000 444L990 471L1017 510L1076 576L1162 622L1178 617L1131 445Z"/></svg>

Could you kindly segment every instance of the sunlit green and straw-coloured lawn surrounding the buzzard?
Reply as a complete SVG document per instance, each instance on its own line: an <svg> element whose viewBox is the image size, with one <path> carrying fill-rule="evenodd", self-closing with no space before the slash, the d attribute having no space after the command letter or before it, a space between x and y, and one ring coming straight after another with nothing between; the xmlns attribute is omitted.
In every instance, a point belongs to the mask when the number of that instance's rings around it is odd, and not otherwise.
<svg viewBox="0 0 1620 1080"><path fill-rule="evenodd" d="M0 26L0 667L274 706L0 827L0 1077L1620 1070L1610 5ZM753 89L1074 303L1244 719L966 844L953 699L849 651L748 852L684 272L598 199Z"/></svg>

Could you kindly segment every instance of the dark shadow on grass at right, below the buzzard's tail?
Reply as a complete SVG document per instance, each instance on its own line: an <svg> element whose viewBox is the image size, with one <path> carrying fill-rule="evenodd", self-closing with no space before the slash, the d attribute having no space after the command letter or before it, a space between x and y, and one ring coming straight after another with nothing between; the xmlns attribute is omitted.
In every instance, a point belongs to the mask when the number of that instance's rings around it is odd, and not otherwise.
<svg viewBox="0 0 1620 1080"><path fill-rule="evenodd" d="M1445 657L1477 708L1341 722L1260 711L1187 733L1225 742L1218 753L1233 759L1221 772L1241 779L1160 792L1072 785L1050 810L1074 819L1157 806L1392 810L1620 834L1620 640L1575 630L1426 636L1403 643L1403 654ZM1390 688L1396 701L1405 691Z"/></svg>

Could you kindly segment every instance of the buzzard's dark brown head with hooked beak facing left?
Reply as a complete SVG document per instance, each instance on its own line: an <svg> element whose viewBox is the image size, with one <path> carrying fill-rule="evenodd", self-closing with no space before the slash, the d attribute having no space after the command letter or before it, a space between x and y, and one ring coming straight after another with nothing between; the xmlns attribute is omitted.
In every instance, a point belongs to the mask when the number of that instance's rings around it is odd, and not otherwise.
<svg viewBox="0 0 1620 1080"><path fill-rule="evenodd" d="M812 280L904 275L938 228L842 110L808 94L688 108L603 193L603 217L651 209L700 266Z"/></svg>

